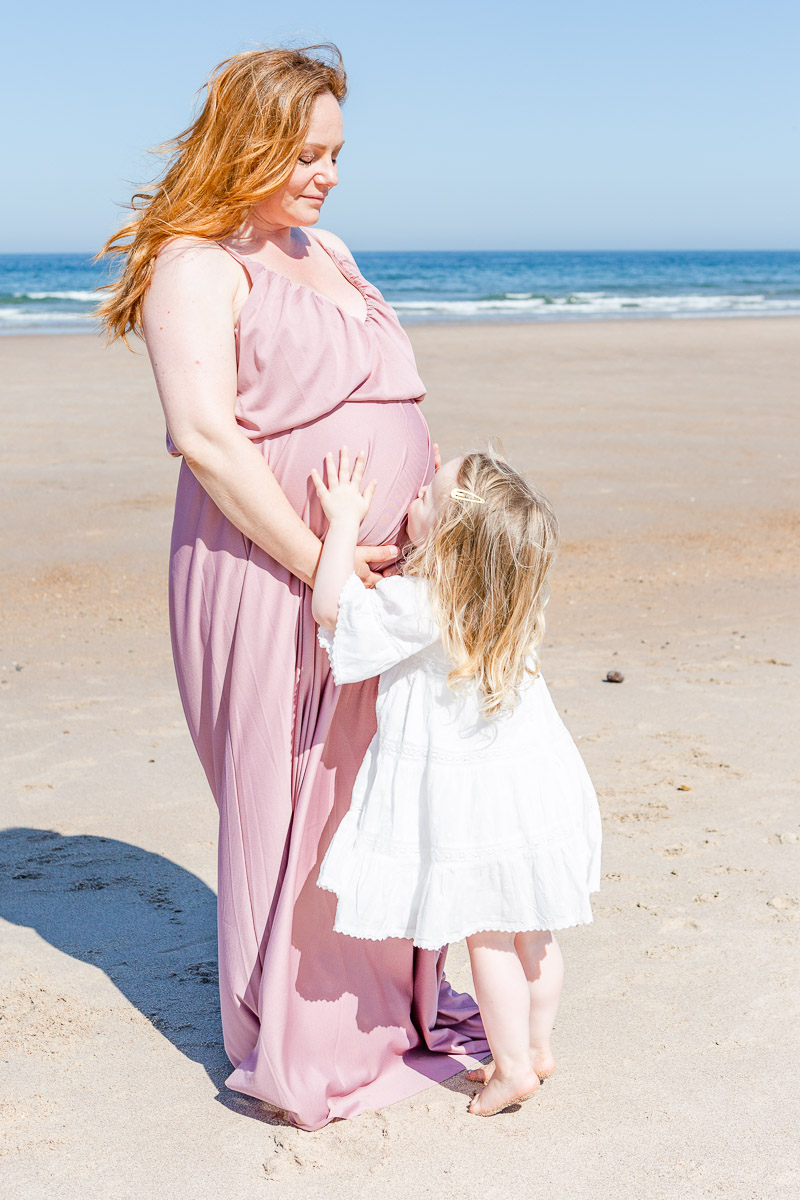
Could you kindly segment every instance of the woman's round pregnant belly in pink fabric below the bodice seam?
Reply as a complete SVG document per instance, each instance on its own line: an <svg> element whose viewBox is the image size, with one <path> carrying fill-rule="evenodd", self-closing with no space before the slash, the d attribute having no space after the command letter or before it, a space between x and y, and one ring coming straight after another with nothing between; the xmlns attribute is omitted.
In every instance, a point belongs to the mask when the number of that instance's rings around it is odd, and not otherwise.
<svg viewBox="0 0 800 1200"><path fill-rule="evenodd" d="M343 445L351 462L359 450L365 450L365 484L378 480L359 541L371 546L396 542L404 533L409 504L433 476L431 434L420 406L410 400L345 401L318 421L265 438L261 448L278 484L318 535L327 522L311 482L311 469L315 467L325 479L325 455L330 450L338 463Z"/></svg>

